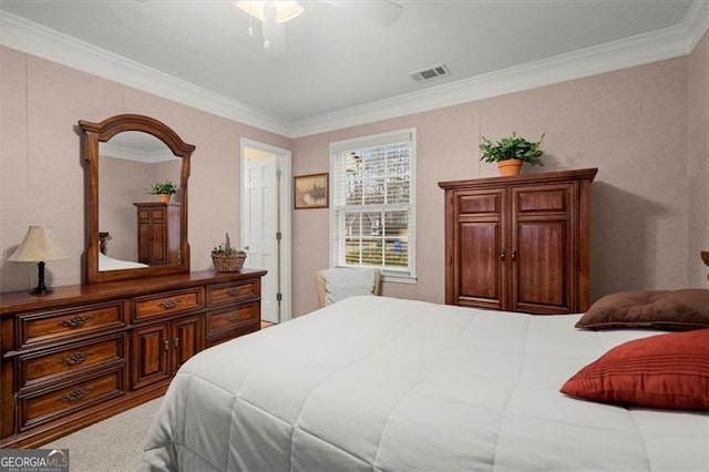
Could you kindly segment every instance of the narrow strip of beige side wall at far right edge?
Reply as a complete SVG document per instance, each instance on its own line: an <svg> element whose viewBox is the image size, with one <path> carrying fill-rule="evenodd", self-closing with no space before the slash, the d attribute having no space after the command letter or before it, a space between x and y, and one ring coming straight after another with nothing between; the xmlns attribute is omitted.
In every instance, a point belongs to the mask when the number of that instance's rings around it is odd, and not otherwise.
<svg viewBox="0 0 709 472"><path fill-rule="evenodd" d="M689 58L689 284L707 286L709 268L709 33Z"/></svg>

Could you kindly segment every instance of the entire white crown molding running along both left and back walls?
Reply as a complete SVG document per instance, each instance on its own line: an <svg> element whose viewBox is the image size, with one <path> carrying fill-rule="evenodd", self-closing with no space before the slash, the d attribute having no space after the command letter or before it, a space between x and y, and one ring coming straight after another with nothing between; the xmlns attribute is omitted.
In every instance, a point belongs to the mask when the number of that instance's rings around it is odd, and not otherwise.
<svg viewBox="0 0 709 472"><path fill-rule="evenodd" d="M0 10L0 44L255 126L301 137L691 53L709 30L709 2L695 0L681 24L360 106L288 121Z"/></svg>

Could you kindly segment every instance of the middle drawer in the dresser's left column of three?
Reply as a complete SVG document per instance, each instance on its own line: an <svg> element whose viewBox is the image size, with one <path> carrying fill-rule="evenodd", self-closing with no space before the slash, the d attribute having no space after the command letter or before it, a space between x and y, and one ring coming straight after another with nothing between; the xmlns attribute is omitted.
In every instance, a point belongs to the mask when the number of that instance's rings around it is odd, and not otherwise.
<svg viewBox="0 0 709 472"><path fill-rule="evenodd" d="M89 373L89 370L123 367L127 351L127 336L104 337L93 342L44 349L19 356L18 381L20 391L58 381L66 376Z"/></svg>

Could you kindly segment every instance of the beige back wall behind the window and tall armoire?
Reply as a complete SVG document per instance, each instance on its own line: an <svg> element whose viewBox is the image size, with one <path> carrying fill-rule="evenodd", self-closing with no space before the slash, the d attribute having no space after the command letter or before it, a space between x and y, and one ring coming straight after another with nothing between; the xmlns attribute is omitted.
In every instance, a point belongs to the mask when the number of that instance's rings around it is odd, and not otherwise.
<svg viewBox="0 0 709 472"><path fill-rule="evenodd" d="M383 284L383 294L442 302L443 192L438 182L496 175L494 166L479 162L481 135L497 138L516 131L536 138L546 133L545 167L525 172L599 170L592 189L592 300L618 290L701 286L697 273L703 271L696 260L687 264L689 222L702 220L706 232L709 219L706 197L703 204L688 205L689 61L679 58L297 138L294 173L327 172L330 142L415 126L419 280ZM706 70L706 57L692 61ZM708 82L696 82L706 98ZM706 140L706 122L697 126ZM706 147L703 155L706 168ZM706 182L705 171L705 188ZM317 306L312 273L328 266L327 209L295 213L294 255L294 314L301 315Z"/></svg>

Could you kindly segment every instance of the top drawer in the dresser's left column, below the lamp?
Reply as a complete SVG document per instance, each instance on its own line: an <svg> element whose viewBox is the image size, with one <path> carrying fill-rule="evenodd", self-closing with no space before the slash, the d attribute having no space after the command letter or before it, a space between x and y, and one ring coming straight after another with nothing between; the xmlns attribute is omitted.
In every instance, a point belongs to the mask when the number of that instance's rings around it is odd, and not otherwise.
<svg viewBox="0 0 709 472"><path fill-rule="evenodd" d="M72 337L122 328L125 326L125 308L124 300L114 300L20 315L18 345L24 348L38 342L56 342Z"/></svg>

